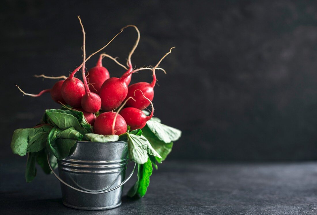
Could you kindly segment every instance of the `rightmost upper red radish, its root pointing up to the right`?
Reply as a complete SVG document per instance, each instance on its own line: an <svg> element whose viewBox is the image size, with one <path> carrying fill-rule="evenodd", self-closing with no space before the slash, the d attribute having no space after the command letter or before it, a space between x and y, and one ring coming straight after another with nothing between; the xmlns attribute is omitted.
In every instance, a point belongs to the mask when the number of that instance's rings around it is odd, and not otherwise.
<svg viewBox="0 0 317 215"><path fill-rule="evenodd" d="M155 69L159 66L159 64L162 62L162 60L171 53L172 49L175 47L172 47L168 53L166 53L161 60L156 64L156 66L153 68L153 81L152 83L147 82L139 82L135 83L129 86L128 88L128 94L127 97L133 96L135 101L130 100L126 103L126 107L133 107L138 108L140 110L143 110L147 108L150 105L150 101L145 100L144 98L148 98L149 100L153 100L154 97L154 87L156 83L156 75L155 75ZM140 90L140 92L135 92L136 90Z"/></svg>

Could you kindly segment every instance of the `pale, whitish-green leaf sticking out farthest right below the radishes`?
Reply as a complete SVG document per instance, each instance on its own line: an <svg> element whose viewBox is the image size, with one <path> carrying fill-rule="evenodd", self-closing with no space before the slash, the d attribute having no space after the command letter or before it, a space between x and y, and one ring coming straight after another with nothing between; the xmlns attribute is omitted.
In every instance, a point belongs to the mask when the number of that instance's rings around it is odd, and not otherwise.
<svg viewBox="0 0 317 215"><path fill-rule="evenodd" d="M146 127L148 127L159 140L162 140L165 143L176 141L182 135L182 132L180 130L164 125L155 120L147 121Z"/></svg>

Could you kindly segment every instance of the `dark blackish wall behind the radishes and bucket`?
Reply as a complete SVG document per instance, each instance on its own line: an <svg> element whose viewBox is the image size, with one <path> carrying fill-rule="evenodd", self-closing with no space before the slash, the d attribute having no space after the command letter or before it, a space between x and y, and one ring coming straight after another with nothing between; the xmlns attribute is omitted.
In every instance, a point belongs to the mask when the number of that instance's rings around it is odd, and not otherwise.
<svg viewBox="0 0 317 215"><path fill-rule="evenodd" d="M34 74L68 75L87 54L121 27L141 32L132 62L155 65L155 116L183 131L170 159L317 159L316 1L1 1L1 150L10 150L16 128L32 127L45 109L59 108L49 94L54 80ZM125 63L136 39L126 29L104 51ZM91 68L95 55L87 62ZM110 75L123 74L105 59ZM80 75L77 75L80 76ZM151 81L150 71L132 82ZM21 158L25 159L25 158Z"/></svg>

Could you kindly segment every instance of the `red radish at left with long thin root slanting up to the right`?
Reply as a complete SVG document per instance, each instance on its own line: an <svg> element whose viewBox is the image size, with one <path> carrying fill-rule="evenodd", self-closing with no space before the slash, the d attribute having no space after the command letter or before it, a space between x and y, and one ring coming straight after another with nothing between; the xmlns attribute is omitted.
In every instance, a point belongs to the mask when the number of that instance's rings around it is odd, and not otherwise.
<svg viewBox="0 0 317 215"><path fill-rule="evenodd" d="M80 17L77 17L79 19L79 22L81 23ZM121 31L116 36L118 36L122 31L123 29L121 29ZM110 40L107 43L107 45L109 45L110 42L112 42L116 36L114 36L112 40ZM89 57L87 57L87 59L84 62L86 62L90 57L104 49L107 45L105 45L98 51L94 52L93 54L89 55ZM63 96L63 99L66 101L67 104L69 104L72 107L80 107L81 98L85 95L85 86L83 82L78 78L74 77L75 73L83 66L84 62L68 76L68 78L64 81L61 87L61 94Z"/></svg>

